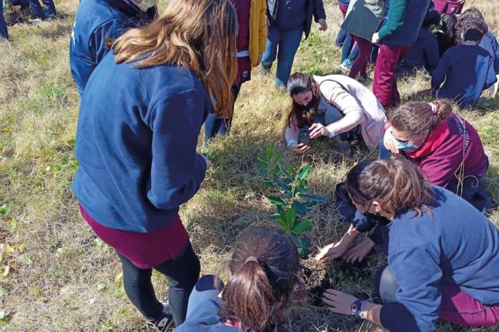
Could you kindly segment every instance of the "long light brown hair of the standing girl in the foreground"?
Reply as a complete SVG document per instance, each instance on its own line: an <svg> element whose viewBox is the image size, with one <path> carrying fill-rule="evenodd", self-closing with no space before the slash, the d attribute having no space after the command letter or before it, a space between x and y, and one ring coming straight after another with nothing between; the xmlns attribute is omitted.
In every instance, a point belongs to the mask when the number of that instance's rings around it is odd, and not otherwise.
<svg viewBox="0 0 499 332"><path fill-rule="evenodd" d="M116 63L148 55L136 65L173 63L192 70L216 100L212 111L231 117L237 29L237 14L230 0L171 0L163 15L145 28L128 30L111 49Z"/></svg>

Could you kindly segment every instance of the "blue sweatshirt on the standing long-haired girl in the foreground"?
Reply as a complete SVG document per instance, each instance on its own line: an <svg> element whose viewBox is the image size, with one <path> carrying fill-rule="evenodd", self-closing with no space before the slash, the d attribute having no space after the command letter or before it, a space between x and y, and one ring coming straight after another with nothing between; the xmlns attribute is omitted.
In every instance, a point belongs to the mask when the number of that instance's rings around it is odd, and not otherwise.
<svg viewBox="0 0 499 332"><path fill-rule="evenodd" d="M210 99L190 70L114 60L103 58L81 100L73 193L98 223L149 232L168 225L205 178L196 145Z"/></svg>

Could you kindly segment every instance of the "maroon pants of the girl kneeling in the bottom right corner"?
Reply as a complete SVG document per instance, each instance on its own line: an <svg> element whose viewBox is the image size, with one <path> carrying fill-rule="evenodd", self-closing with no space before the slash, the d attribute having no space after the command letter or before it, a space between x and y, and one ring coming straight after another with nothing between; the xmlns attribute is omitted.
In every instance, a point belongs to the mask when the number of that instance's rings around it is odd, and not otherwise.
<svg viewBox="0 0 499 332"><path fill-rule="evenodd" d="M456 284L441 285L440 318L463 326L490 326L499 323L499 304L485 306Z"/></svg>

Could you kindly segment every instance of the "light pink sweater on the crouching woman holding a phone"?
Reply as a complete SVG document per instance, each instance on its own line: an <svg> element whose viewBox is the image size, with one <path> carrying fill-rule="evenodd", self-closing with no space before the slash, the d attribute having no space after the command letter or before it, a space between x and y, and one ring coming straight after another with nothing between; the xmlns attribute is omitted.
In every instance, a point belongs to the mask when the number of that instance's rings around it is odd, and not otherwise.
<svg viewBox="0 0 499 332"><path fill-rule="evenodd" d="M366 145L371 149L378 147L383 139L382 129L386 122L385 109L374 94L364 85L344 75L314 76L319 84L321 95L326 102L339 109L344 117L329 124L329 132L338 135L355 128L360 124L361 134ZM332 80L332 81L331 81ZM319 109L325 112L325 109ZM292 119L292 124L286 129L286 141L297 142L299 128Z"/></svg>

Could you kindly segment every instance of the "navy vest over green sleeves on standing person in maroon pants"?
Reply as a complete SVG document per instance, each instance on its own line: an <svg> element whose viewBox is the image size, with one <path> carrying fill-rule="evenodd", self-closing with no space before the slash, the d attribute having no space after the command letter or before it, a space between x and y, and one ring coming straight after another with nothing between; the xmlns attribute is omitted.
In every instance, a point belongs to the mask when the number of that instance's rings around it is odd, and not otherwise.
<svg viewBox="0 0 499 332"><path fill-rule="evenodd" d="M428 12L431 0L389 0L385 4L386 17L381 21L379 31L381 44L403 47L411 45L418 38L419 29ZM405 6L405 10L400 9ZM393 15L396 13L397 15ZM389 31L385 26L388 20L395 22L395 30Z"/></svg>

